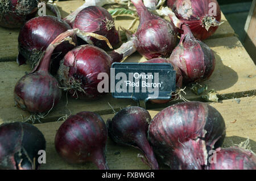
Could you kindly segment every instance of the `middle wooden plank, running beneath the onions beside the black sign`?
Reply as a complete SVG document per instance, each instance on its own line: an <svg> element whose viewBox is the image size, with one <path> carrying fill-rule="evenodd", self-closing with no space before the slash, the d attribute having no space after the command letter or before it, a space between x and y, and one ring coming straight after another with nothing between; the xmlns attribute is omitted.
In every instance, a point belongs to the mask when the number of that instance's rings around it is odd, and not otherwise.
<svg viewBox="0 0 256 181"><path fill-rule="evenodd" d="M206 84L208 89L214 89L218 92L220 99L239 98L241 96L254 95L256 93L256 66L242 47L237 37L225 37L221 39L211 39L205 41L210 48L214 50L216 56L216 68L212 77L208 81L202 82ZM143 61L144 58L138 53L128 57L125 62ZM18 66L16 62L0 62L0 123L5 123L14 120L22 120L27 117L28 113L15 107L13 101L13 90L15 83L24 75L25 71L30 71L28 65ZM185 86L185 85L184 85ZM191 86L187 86L185 98L189 100L201 100L200 96L193 94L190 90ZM119 110L121 107L129 105L137 105L133 100L129 99L114 99L110 94L102 96L95 101L68 99L68 106L65 108L67 99L65 94L61 102L49 113L46 119L42 121L55 121L65 114L69 115L69 110L72 113L80 111L94 111L101 115L112 113L112 107ZM147 108L166 107L175 102L167 104L147 104Z"/></svg>

